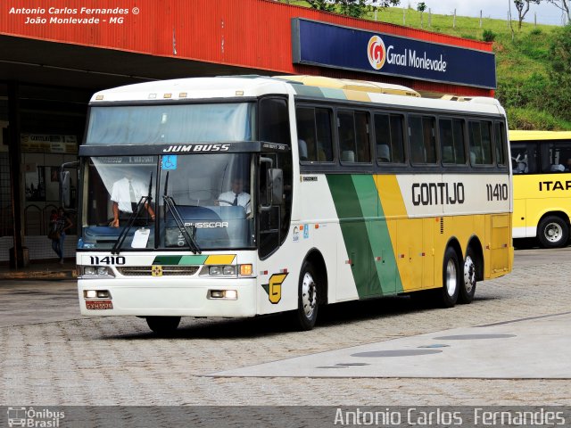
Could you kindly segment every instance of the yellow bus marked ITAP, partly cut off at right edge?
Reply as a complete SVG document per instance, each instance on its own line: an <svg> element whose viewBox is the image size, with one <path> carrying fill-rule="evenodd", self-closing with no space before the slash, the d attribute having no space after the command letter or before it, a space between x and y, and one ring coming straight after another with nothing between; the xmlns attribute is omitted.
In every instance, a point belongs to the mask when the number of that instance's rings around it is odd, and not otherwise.
<svg viewBox="0 0 571 428"><path fill-rule="evenodd" d="M514 174L513 237L544 248L569 240L571 132L509 131Z"/></svg>

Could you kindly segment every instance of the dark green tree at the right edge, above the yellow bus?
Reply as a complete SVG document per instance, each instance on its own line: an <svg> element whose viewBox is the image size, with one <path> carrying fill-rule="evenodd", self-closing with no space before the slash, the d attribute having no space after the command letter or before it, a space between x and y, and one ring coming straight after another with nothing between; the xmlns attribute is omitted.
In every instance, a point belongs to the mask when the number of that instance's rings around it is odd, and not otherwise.
<svg viewBox="0 0 571 428"><path fill-rule="evenodd" d="M571 120L571 24L559 29L550 45L550 111Z"/></svg>

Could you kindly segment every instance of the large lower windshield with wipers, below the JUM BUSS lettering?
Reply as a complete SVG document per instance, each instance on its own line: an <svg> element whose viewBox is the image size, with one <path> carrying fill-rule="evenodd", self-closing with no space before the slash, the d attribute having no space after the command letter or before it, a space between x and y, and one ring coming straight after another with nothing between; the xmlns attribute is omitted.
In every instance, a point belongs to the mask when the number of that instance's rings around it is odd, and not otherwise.
<svg viewBox="0 0 571 428"><path fill-rule="evenodd" d="M120 251L252 248L252 159L252 153L88 158L79 248L112 249L129 221Z"/></svg>

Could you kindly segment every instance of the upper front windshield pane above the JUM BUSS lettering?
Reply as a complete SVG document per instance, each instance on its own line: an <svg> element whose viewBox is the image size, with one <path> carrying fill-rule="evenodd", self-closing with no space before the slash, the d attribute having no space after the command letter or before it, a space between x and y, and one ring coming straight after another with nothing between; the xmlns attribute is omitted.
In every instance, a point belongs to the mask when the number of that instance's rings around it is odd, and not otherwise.
<svg viewBox="0 0 571 428"><path fill-rule="evenodd" d="M253 106L253 103L213 103L92 107L86 143L251 141Z"/></svg>

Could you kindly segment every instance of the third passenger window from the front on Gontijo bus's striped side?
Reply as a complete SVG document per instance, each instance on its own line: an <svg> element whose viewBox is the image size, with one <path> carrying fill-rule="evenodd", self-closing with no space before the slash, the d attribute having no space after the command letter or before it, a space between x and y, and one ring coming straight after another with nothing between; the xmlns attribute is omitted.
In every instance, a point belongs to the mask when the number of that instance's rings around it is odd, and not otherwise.
<svg viewBox="0 0 571 428"><path fill-rule="evenodd" d="M375 139L378 163L403 163L402 116L397 114L375 115Z"/></svg>

